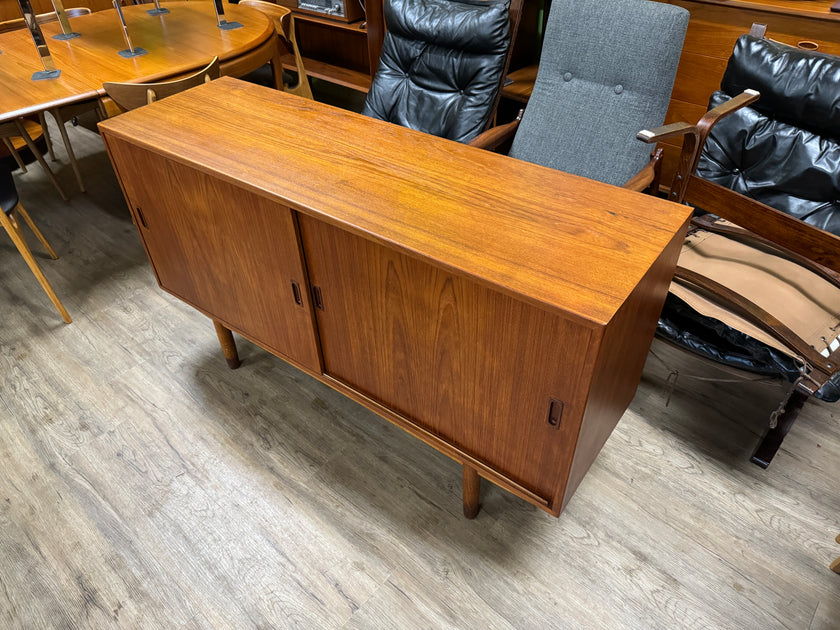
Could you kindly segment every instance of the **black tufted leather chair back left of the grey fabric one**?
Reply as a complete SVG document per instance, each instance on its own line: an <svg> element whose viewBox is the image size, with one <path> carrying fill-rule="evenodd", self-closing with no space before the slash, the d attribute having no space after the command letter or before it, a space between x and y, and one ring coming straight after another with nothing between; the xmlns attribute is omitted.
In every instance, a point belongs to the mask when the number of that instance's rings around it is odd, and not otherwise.
<svg viewBox="0 0 840 630"><path fill-rule="evenodd" d="M379 68L362 113L468 142L501 87L507 0L389 0Z"/></svg>

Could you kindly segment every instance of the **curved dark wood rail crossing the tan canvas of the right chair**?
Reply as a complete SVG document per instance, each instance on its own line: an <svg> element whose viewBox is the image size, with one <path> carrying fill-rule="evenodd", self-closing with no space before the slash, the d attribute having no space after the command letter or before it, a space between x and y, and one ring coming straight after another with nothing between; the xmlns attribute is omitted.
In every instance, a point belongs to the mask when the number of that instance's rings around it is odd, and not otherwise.
<svg viewBox="0 0 840 630"><path fill-rule="evenodd" d="M812 382L812 385L816 386L814 391L825 384L837 371L835 366L838 364L837 360L840 359L840 349L832 352L828 358L822 356L807 341L776 319L771 313L768 313L755 304L755 302L748 300L740 293L736 293L729 287L711 278L707 278L696 271L677 265L674 279L681 284L699 290L713 301L737 313L740 317L758 326L793 350L797 356L806 361L811 367L812 372L809 380Z"/></svg>

